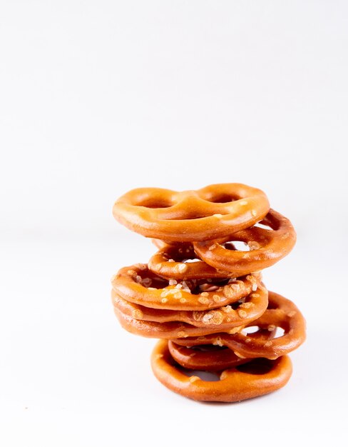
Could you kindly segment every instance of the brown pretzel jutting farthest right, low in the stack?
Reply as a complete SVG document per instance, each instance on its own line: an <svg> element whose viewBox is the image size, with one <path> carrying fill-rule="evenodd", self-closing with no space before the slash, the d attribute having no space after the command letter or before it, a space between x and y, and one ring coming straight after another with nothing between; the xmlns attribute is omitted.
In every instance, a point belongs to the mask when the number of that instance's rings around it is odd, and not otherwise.
<svg viewBox="0 0 348 447"><path fill-rule="evenodd" d="M226 333L210 334L199 338L185 338L173 340L183 346L197 346L200 344L218 344L232 349L242 358L265 357L275 359L294 351L305 341L305 318L292 301L275 292L268 292L268 308L260 318L248 323L248 326L258 326L262 331L284 329L284 335L265 340L259 333ZM180 337L179 337L180 338Z"/></svg>

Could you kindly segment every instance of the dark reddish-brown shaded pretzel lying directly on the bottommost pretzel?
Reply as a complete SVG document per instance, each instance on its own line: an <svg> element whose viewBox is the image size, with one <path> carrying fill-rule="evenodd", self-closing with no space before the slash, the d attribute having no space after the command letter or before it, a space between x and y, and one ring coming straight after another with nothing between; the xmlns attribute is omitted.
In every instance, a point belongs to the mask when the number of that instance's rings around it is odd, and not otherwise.
<svg viewBox="0 0 348 447"><path fill-rule="evenodd" d="M202 345L205 351L180 346L173 341L168 341L170 355L180 366L198 371L222 371L249 361L248 358L240 358L232 349L220 348L214 345Z"/></svg>

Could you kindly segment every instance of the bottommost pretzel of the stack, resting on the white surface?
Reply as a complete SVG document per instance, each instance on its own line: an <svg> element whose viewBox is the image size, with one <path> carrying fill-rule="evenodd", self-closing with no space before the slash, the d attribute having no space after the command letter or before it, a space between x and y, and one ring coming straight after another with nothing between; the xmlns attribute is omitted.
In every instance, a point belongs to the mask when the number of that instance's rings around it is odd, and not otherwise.
<svg viewBox="0 0 348 447"><path fill-rule="evenodd" d="M257 358L256 361L225 369L220 381L203 381L197 376L186 376L175 366L170 356L168 341L160 340L152 353L151 366L156 378L175 393L195 401L236 402L271 393L289 381L292 364L288 356L270 361ZM265 372L251 373L254 366L267 367ZM248 372L249 371L249 372Z"/></svg>

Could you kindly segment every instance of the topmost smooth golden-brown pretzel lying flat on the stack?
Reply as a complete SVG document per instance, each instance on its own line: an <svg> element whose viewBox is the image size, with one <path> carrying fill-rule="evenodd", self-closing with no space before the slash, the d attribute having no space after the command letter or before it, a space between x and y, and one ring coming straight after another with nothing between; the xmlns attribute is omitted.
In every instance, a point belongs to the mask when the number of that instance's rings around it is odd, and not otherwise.
<svg viewBox="0 0 348 447"><path fill-rule="evenodd" d="M260 221L270 208L260 189L216 184L197 191L138 188L121 196L113 216L136 233L167 241L205 241Z"/></svg>

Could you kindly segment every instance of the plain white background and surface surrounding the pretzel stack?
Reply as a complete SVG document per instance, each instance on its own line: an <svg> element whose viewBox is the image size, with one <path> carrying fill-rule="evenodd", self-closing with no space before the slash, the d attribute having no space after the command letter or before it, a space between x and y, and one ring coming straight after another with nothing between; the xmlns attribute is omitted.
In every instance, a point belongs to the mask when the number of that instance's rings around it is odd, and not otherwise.
<svg viewBox="0 0 348 447"><path fill-rule="evenodd" d="M0 2L1 446L347 441L345 1ZM113 201L239 181L297 229L265 272L307 318L290 383L202 404L110 300L150 241Z"/></svg>

